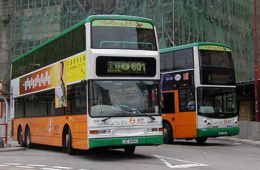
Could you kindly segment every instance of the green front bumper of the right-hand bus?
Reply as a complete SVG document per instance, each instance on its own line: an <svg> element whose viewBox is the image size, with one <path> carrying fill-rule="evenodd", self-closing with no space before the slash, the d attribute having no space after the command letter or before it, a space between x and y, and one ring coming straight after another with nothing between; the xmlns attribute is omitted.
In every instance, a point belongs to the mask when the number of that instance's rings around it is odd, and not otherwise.
<svg viewBox="0 0 260 170"><path fill-rule="evenodd" d="M197 129L197 137L219 137L238 135L238 127Z"/></svg>

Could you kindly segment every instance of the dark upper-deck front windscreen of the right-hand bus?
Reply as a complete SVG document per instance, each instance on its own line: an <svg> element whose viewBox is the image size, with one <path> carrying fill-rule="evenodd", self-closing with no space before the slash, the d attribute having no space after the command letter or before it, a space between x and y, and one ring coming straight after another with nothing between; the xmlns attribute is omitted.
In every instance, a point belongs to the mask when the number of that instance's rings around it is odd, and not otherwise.
<svg viewBox="0 0 260 170"><path fill-rule="evenodd" d="M220 46L199 46L201 84L235 85L231 50Z"/></svg>

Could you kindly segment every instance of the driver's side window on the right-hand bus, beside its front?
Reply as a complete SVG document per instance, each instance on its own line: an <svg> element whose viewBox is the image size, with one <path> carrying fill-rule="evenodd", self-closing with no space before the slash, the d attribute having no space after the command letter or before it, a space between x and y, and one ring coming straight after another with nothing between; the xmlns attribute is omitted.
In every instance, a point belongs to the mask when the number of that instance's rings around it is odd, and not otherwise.
<svg viewBox="0 0 260 170"><path fill-rule="evenodd" d="M179 90L180 111L195 111L195 91L193 88Z"/></svg>

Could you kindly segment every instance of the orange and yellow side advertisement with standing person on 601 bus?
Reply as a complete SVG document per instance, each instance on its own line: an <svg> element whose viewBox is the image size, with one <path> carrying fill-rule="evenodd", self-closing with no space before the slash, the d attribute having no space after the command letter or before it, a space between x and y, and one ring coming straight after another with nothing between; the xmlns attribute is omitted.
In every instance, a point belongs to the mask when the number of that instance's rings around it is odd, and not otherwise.
<svg viewBox="0 0 260 170"><path fill-rule="evenodd" d="M55 88L55 98L66 101L68 83L86 79L86 54L79 54L20 78L20 95ZM57 98L56 98L57 99ZM66 103L59 103L67 105ZM58 103L55 101L55 106Z"/></svg>

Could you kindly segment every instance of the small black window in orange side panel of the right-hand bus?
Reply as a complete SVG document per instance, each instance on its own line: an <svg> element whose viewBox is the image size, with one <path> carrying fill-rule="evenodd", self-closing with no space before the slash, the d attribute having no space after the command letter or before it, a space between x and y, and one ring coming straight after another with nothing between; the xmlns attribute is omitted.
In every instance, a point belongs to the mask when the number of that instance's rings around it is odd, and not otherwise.
<svg viewBox="0 0 260 170"><path fill-rule="evenodd" d="M174 93L163 93L162 113L175 113Z"/></svg>

